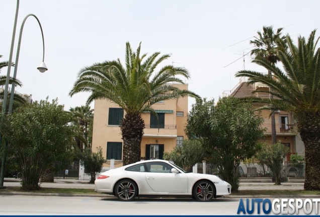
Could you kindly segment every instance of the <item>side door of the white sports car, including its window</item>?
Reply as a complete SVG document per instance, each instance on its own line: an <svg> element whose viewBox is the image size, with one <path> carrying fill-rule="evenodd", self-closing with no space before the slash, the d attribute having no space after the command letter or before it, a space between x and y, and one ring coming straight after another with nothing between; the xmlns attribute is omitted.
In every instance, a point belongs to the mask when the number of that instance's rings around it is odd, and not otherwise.
<svg viewBox="0 0 320 217"><path fill-rule="evenodd" d="M184 173L172 173L171 165L165 162L146 163L148 172L145 179L155 192L185 193L188 190L188 178Z"/></svg>

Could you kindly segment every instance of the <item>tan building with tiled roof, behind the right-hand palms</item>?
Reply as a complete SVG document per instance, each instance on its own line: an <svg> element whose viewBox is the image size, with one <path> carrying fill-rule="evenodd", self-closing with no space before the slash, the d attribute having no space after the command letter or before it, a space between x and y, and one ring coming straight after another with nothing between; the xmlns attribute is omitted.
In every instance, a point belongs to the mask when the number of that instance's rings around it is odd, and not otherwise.
<svg viewBox="0 0 320 217"><path fill-rule="evenodd" d="M233 90L230 91L230 95L236 98L243 97L269 97L268 93L257 92L252 93L254 90L268 90L269 87L262 83L249 84L247 82L240 81ZM254 103L255 107L263 106L262 103ZM263 110L261 115L264 118L263 127L266 128L266 137L260 142L266 142L272 144L271 137L271 118L270 110ZM300 138L300 135L296 131L295 120L291 113L286 111L275 111L275 124L276 124L276 135L277 142L281 141L285 146L290 148L290 153L287 155L287 161L290 160L291 153L298 153L304 155L304 144Z"/></svg>

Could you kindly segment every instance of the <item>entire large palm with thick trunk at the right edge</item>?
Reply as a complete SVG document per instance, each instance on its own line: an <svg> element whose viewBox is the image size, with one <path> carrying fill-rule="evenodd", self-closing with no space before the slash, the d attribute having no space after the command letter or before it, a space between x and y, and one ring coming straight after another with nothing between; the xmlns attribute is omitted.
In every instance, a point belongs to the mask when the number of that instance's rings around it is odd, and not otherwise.
<svg viewBox="0 0 320 217"><path fill-rule="evenodd" d="M274 78L255 71L238 71L237 77L249 77L249 83L262 82L272 90L268 92L275 98L254 98L266 103L261 109L283 110L291 112L297 121L297 131L305 147L304 189L320 190L320 48L316 49L319 38L315 30L308 41L298 37L298 44L286 36L286 42L278 39L278 58L283 65L276 66L263 57L257 57L254 63L274 73Z"/></svg>

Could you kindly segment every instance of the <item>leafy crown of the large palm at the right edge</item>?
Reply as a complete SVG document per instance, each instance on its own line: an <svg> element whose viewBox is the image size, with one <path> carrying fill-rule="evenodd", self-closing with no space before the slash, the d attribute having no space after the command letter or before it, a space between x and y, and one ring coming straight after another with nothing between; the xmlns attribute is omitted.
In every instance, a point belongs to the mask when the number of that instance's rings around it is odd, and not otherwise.
<svg viewBox="0 0 320 217"><path fill-rule="evenodd" d="M242 70L236 77L246 76L249 83L261 82L271 90L256 90L275 96L255 98L256 101L267 103L263 109L285 110L288 112L320 111L320 48L316 49L319 38L315 38L315 30L308 40L298 37L295 45L289 35L285 40L278 38L277 57L284 71L263 57L257 56L253 62L273 72L273 76L256 71Z"/></svg>

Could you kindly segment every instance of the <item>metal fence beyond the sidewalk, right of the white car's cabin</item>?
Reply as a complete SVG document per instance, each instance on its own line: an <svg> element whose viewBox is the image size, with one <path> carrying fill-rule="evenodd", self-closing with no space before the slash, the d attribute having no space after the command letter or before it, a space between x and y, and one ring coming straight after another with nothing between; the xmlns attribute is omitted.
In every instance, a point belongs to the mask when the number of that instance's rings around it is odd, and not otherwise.
<svg viewBox="0 0 320 217"><path fill-rule="evenodd" d="M219 169L216 165L209 163L198 164L197 172L203 173L203 165L205 165L205 173L211 175L218 175ZM259 177L271 177L274 180L274 174L267 166L262 166L257 163L239 165L238 170L240 177L250 177L250 178L259 178ZM281 171L281 181L286 182L288 178L304 178L305 176L305 164L294 165L291 163L284 163Z"/></svg>

